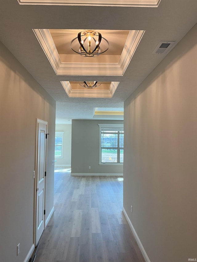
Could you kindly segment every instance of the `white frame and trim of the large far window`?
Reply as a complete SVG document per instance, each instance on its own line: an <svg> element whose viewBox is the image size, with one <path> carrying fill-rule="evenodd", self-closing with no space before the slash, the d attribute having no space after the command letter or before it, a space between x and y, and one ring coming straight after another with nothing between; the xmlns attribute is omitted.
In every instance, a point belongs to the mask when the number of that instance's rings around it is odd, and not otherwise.
<svg viewBox="0 0 197 262"><path fill-rule="evenodd" d="M102 163L101 162L101 151L102 151L102 148L101 148L101 130L102 128L124 128L124 125L123 124L98 124L99 126L99 162L98 164L99 165L107 165L107 166L123 166L123 163ZM124 131L124 129L123 129ZM113 131L112 131L113 132ZM119 144L119 140L118 140L118 144ZM110 148L109 148L110 149ZM118 161L118 151L120 151L120 149L124 149L124 147L117 147L117 161Z"/></svg>

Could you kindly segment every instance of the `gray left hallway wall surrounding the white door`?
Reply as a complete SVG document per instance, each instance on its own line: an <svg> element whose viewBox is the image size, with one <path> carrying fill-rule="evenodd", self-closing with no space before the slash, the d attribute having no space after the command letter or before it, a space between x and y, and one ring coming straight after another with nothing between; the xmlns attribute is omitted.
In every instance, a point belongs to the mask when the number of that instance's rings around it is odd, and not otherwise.
<svg viewBox="0 0 197 262"><path fill-rule="evenodd" d="M36 118L50 134L46 217L53 208L55 101L1 42L0 73L0 261L23 262L33 245Z"/></svg>

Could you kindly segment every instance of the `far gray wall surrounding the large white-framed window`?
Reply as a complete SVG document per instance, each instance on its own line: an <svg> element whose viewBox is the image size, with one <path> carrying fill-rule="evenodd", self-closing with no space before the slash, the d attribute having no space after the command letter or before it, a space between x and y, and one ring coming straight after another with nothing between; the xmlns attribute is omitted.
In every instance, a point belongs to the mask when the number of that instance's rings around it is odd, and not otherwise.
<svg viewBox="0 0 197 262"><path fill-rule="evenodd" d="M72 120L71 174L123 174L123 165L98 165L98 123L123 124L123 120Z"/></svg>

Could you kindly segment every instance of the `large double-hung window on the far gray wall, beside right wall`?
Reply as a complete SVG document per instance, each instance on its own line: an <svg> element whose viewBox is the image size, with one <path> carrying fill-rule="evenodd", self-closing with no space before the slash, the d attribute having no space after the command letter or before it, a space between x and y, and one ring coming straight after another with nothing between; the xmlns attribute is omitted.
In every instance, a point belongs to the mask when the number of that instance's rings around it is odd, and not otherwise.
<svg viewBox="0 0 197 262"><path fill-rule="evenodd" d="M99 164L123 164L123 124L98 124L100 130Z"/></svg>

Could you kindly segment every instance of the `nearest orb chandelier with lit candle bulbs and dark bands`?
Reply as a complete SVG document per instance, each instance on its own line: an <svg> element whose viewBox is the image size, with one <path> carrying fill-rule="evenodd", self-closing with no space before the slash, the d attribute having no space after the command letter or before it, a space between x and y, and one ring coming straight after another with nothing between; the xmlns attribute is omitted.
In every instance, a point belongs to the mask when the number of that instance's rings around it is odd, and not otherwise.
<svg viewBox="0 0 197 262"><path fill-rule="evenodd" d="M76 40L76 41L75 41ZM78 40L78 42L77 42ZM105 41L107 43L106 47L104 50L100 48L101 40ZM74 43L77 42L77 45L79 46L79 49L74 48ZM76 44L75 44L76 46ZM106 52L109 48L109 42L107 39L102 37L101 33L95 32L92 30L86 30L86 31L81 31L78 33L78 36L75 37L71 42L70 42L70 48L75 52L80 54L82 57L98 57L100 54L103 54Z"/></svg>

